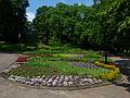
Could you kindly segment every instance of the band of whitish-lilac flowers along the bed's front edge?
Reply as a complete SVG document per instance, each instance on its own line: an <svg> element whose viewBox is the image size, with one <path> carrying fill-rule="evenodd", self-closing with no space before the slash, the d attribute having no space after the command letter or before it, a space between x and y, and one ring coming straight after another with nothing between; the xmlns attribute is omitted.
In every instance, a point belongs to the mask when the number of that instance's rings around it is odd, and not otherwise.
<svg viewBox="0 0 130 98"><path fill-rule="evenodd" d="M52 76L34 76L22 77L10 75L8 77L11 82L17 82L29 86L47 86L47 87L81 87L107 84L102 79L94 77L67 76L67 75L52 75Z"/></svg>

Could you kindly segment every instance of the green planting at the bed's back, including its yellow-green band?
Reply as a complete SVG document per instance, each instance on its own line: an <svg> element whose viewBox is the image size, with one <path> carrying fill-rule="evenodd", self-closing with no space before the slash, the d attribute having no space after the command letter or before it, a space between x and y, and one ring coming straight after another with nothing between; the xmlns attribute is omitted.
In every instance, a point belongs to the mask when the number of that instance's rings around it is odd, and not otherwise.
<svg viewBox="0 0 130 98"><path fill-rule="evenodd" d="M80 48L75 48L69 45L64 45L61 47L54 46L46 46L39 44L39 49L36 51L26 51L25 54L51 54L55 58L70 58L70 57L79 57L81 59L100 59L102 56L99 52L93 50L83 50ZM75 58L76 59L76 58Z"/></svg>

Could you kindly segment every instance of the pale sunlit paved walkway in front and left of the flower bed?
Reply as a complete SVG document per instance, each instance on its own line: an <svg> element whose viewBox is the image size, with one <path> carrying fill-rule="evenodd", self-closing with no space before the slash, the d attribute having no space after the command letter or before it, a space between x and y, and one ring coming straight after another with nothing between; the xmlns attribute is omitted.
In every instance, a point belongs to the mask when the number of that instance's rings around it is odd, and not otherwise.
<svg viewBox="0 0 130 98"><path fill-rule="evenodd" d="M0 69L4 70L16 54L0 53ZM0 77L0 98L130 98L130 91L121 86L104 86L80 90L49 90L22 87Z"/></svg>

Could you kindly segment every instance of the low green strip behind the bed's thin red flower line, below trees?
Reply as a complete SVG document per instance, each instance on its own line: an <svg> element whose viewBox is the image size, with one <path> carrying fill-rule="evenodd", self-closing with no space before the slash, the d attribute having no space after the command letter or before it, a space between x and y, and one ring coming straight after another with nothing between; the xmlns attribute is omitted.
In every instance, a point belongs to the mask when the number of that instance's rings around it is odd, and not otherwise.
<svg viewBox="0 0 130 98"><path fill-rule="evenodd" d="M53 47L53 46L46 46L38 47L35 51L26 51L25 54L53 54L53 53L70 53L70 54L98 54L99 52L92 50L83 50L80 48L74 48L72 46L62 46L62 47Z"/></svg>

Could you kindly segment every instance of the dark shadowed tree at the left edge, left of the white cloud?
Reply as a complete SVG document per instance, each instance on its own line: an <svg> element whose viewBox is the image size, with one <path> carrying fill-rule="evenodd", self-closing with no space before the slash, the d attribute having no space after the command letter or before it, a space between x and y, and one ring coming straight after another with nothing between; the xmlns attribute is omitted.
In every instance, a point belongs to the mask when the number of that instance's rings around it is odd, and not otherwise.
<svg viewBox="0 0 130 98"><path fill-rule="evenodd" d="M0 40L17 42L25 36L28 0L0 0Z"/></svg>

